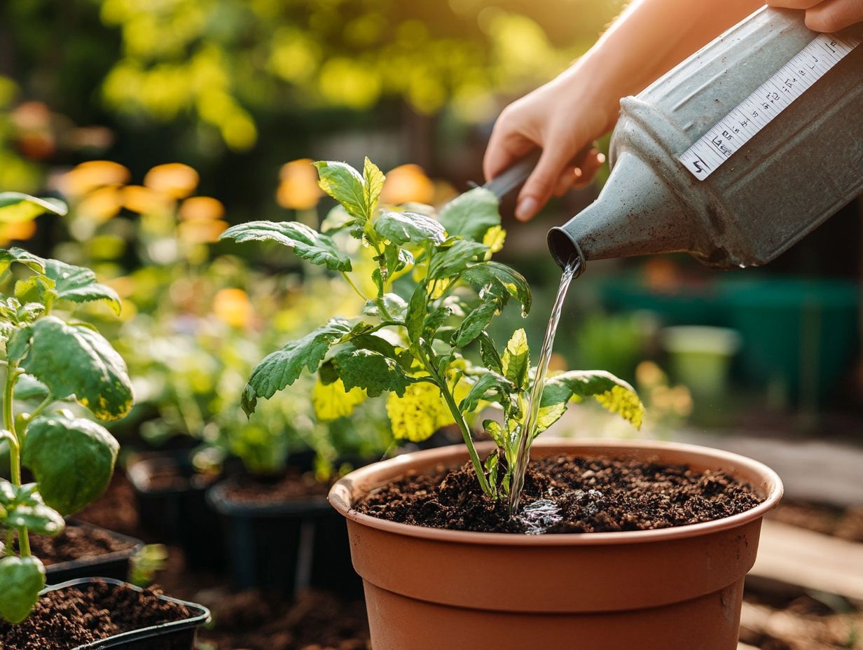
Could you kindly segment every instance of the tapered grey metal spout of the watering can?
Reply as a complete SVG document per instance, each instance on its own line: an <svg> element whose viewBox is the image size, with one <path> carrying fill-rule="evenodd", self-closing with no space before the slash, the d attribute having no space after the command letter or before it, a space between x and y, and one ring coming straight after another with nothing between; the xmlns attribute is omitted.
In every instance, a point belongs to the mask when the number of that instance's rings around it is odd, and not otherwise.
<svg viewBox="0 0 863 650"><path fill-rule="evenodd" d="M626 187L626 192L620 192ZM645 161L625 152L599 198L548 233L548 247L562 268L587 260L667 253L690 248L685 207Z"/></svg>

